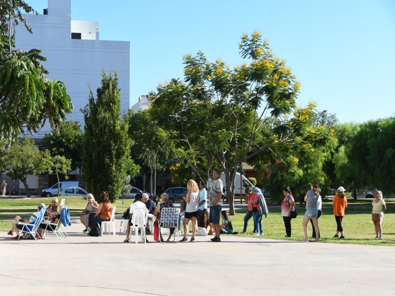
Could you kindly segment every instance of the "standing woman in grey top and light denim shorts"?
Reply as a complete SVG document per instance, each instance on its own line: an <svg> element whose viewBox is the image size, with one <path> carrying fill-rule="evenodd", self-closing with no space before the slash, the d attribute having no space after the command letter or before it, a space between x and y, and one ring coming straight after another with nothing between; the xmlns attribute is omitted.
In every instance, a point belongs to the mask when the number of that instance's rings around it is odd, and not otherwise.
<svg viewBox="0 0 395 296"><path fill-rule="evenodd" d="M319 229L317 222L317 215L318 215L317 201L320 191L321 189L318 187L318 183L314 182L311 185L311 189L307 191L305 196L306 213L305 213L305 217L303 217L303 231L305 233L305 239L303 240L304 242L309 242L309 233L307 230L307 224L309 223L310 219L313 220L314 229L316 230L315 242L319 241Z"/></svg>

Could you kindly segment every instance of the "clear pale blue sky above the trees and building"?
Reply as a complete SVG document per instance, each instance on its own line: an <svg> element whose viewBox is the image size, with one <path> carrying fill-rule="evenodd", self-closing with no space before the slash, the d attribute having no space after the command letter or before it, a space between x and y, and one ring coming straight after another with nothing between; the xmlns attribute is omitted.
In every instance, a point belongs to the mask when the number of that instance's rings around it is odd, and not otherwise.
<svg viewBox="0 0 395 296"><path fill-rule="evenodd" d="M47 0L26 0L42 13ZM72 19L99 21L100 39L130 41L130 101L183 77L182 56L201 50L231 67L237 43L259 30L315 101L340 122L395 115L393 0L71 0Z"/></svg>

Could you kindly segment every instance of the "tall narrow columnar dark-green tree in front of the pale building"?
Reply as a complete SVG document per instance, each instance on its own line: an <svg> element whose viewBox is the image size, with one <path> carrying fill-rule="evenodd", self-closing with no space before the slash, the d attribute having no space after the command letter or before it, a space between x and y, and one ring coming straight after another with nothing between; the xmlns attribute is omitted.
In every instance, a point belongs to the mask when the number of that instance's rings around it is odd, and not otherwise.
<svg viewBox="0 0 395 296"><path fill-rule="evenodd" d="M139 167L130 158L131 140L127 118L120 118L118 74L102 73L97 97L90 89L88 104L81 109L85 119L82 151L83 176L92 193L109 192L114 202L126 175L134 176Z"/></svg>

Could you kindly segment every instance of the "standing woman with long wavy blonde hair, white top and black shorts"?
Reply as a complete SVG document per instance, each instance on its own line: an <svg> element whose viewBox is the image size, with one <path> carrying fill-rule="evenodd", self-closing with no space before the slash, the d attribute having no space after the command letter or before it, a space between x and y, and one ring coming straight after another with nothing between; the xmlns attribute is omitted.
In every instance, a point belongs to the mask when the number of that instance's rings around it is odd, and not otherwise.
<svg viewBox="0 0 395 296"><path fill-rule="evenodd" d="M185 216L184 216L184 237L182 240L180 240L180 243L186 243L188 242L188 222L192 220L192 238L191 238L191 243L195 242L195 234L196 234L196 222L197 222L197 214L199 214L199 187L197 186L197 183L190 179L187 183L187 196L183 196L182 198L185 200L187 203L187 206L185 208Z"/></svg>

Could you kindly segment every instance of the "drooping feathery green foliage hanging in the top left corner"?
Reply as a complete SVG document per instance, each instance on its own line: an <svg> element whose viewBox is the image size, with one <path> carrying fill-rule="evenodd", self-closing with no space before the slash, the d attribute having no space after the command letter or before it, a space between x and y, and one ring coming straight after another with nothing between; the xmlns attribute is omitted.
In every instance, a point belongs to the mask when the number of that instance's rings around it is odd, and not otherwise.
<svg viewBox="0 0 395 296"><path fill-rule="evenodd" d="M0 0L0 4L0 150L4 150L23 134L23 128L37 132L48 120L57 132L74 107L66 85L46 76L48 72L41 64L46 59L40 50L12 49L13 23L23 22L32 33L20 9L34 10L23 0Z"/></svg>

